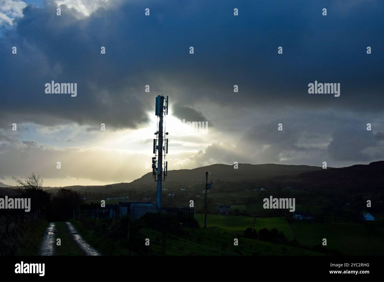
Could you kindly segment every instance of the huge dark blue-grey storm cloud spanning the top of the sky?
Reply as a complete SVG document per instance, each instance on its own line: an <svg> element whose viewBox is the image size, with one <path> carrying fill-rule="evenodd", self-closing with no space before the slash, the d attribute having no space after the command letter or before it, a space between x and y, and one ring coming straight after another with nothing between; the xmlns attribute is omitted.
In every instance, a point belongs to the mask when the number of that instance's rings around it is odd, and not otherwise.
<svg viewBox="0 0 384 282"><path fill-rule="evenodd" d="M197 111L207 102L382 111L383 3L353 3L111 2L86 18L64 5L61 16L49 2L28 6L0 38L0 126L137 127L162 89ZM45 94L52 80L78 83L78 96ZM315 80L341 83L341 96L308 94Z"/></svg>

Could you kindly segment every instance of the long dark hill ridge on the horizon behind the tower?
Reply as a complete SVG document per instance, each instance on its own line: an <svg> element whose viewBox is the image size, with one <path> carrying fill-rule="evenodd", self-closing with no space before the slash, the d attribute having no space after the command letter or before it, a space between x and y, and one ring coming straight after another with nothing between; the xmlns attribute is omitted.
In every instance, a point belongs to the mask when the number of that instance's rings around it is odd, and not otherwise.
<svg viewBox="0 0 384 282"><path fill-rule="evenodd" d="M198 183L205 183L205 172L210 172L210 181L218 184L218 180L228 183L237 183L240 187L248 183L244 188L252 185L265 187L294 187L294 188L321 188L333 189L338 187L354 188L355 190L376 190L384 187L384 161L372 162L369 165L352 165L351 167L323 169L308 165L280 165L261 164L252 165L239 163L235 169L233 165L214 164L193 169L169 170L164 185L195 187ZM0 182L0 187L4 183ZM7 189L9 185L5 185ZM146 173L130 183L114 183L109 185L73 185L63 188L75 191L97 191L109 193L119 191L123 195L129 189L141 189L156 187L152 172ZM44 187L44 189L58 190L59 187ZM241 189L241 188L240 188ZM53 191L54 192L54 191ZM121 192L121 193L120 193Z"/></svg>

